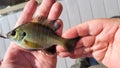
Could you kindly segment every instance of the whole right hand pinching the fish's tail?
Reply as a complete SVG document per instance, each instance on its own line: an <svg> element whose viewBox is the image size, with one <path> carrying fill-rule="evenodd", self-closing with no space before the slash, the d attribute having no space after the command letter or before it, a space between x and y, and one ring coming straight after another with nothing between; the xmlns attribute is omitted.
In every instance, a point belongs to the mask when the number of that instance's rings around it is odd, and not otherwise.
<svg viewBox="0 0 120 68"><path fill-rule="evenodd" d="M57 47L62 57L94 57L108 68L120 68L120 19L95 19L69 29L65 38L80 36L74 54ZM117 63L116 63L117 62Z"/></svg>

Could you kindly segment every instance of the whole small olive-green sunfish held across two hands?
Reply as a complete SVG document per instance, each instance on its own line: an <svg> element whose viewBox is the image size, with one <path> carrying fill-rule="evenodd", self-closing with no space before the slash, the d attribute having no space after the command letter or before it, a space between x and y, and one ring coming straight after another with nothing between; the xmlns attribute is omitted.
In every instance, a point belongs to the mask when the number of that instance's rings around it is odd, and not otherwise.
<svg viewBox="0 0 120 68"><path fill-rule="evenodd" d="M56 20L49 21L41 16L14 28L7 33L6 38L27 50L45 50L46 53L54 54L56 46L60 45L68 52L73 53L80 37L63 38L56 34L59 27L60 25L56 24ZM1 37L5 38L4 36Z"/></svg>

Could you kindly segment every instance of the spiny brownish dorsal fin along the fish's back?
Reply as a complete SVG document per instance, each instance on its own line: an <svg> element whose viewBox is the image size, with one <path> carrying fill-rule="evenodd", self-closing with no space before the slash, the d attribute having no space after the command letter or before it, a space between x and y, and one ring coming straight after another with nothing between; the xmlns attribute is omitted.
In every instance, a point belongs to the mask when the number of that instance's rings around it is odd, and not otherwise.
<svg viewBox="0 0 120 68"><path fill-rule="evenodd" d="M56 20L49 21L46 17L43 16L37 16L33 18L31 22L47 26L54 31L56 31L59 28L59 24L56 23Z"/></svg>

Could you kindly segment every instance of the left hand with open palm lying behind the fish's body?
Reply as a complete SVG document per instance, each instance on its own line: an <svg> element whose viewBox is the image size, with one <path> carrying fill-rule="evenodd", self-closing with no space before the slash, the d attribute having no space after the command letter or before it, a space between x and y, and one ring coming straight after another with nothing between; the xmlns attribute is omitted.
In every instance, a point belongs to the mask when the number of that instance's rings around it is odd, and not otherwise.
<svg viewBox="0 0 120 68"><path fill-rule="evenodd" d="M35 0L30 0L20 15L16 26L30 21L36 7L37 3ZM55 2L55 0L43 0L36 11L36 16L44 16L49 20L56 20L60 16L61 11L62 6L60 3ZM56 31L60 35L62 22L61 20L57 20L57 22L61 24L61 27ZM3 58L1 68L55 68L56 61L56 55L46 55L41 51L26 51L15 43L11 43Z"/></svg>

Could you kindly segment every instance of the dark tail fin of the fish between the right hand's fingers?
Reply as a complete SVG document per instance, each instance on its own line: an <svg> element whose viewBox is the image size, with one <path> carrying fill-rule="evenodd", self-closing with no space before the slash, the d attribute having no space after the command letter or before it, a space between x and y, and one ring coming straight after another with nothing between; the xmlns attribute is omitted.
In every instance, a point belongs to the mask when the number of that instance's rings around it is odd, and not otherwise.
<svg viewBox="0 0 120 68"><path fill-rule="evenodd" d="M68 52L70 53L74 52L74 48L76 47L76 44L79 39L80 37L76 37L73 39L67 39L67 41L65 42L65 48L67 49Z"/></svg>

